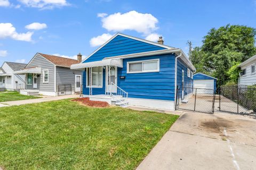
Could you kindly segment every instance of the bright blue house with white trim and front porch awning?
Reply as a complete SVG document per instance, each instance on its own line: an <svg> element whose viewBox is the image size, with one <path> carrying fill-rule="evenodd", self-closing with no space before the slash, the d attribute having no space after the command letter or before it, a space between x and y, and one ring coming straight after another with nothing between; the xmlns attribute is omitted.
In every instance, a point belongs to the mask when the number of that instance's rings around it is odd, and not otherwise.
<svg viewBox="0 0 256 170"><path fill-rule="evenodd" d="M121 106L169 109L176 88L193 87L196 71L179 48L117 33L73 70L83 70L83 95Z"/></svg>

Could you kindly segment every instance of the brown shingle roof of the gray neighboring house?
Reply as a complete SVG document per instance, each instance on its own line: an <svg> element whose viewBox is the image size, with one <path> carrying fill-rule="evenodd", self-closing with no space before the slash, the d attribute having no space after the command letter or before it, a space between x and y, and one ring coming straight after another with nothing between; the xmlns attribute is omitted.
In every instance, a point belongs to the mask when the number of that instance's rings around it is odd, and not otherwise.
<svg viewBox="0 0 256 170"><path fill-rule="evenodd" d="M73 60L73 59L70 59L70 58L58 57L58 56L47 55L47 54L42 54L42 53L38 53L38 54L41 55L42 57L44 57L46 60L49 60L53 64L57 65L57 66L70 67L72 64L78 64L79 63L79 61Z"/></svg>

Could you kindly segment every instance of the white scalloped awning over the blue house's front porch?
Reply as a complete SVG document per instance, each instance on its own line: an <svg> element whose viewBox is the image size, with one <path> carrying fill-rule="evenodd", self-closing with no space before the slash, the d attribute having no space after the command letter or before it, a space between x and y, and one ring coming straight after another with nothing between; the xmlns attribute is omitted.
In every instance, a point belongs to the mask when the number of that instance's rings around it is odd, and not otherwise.
<svg viewBox="0 0 256 170"><path fill-rule="evenodd" d="M100 66L123 67L123 62L119 58L109 58L109 59L103 59L101 61L73 64L73 65L71 65L70 69L71 70L84 70L85 68L100 67Z"/></svg>

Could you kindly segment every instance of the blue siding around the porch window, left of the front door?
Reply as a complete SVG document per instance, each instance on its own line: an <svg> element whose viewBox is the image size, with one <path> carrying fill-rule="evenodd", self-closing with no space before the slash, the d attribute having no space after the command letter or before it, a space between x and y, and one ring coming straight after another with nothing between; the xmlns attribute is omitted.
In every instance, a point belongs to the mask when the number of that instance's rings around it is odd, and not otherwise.
<svg viewBox="0 0 256 170"><path fill-rule="evenodd" d="M102 69L103 81L102 88L92 88L93 95L105 94L106 69ZM89 88L86 88L86 71L83 71L83 94L89 95Z"/></svg>

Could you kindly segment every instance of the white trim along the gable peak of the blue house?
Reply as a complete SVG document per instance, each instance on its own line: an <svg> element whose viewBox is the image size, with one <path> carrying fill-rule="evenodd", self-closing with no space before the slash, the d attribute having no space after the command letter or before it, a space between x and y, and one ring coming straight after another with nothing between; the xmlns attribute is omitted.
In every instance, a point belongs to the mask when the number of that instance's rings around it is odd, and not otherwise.
<svg viewBox="0 0 256 170"><path fill-rule="evenodd" d="M152 45L155 45L155 46L159 46L159 47L163 47L163 48L167 48L167 49L173 49L173 47L170 47L170 46L166 46L166 45L162 45L162 44L158 44L158 43L155 43L153 41L148 41L146 39L141 39L141 38L137 38L137 37L133 37L133 36L128 36L128 35L125 35L123 33L116 33L113 37L111 37L109 40L106 41L106 43L104 43L103 45L101 45L99 48L97 48L96 50L94 50L94 52L92 54L90 54L89 56L87 56L81 63L83 63L84 61L86 61L89 57L91 57L93 54L95 54L96 52L98 52L98 50L100 50L102 47L104 47L106 44L108 44L111 40L113 40L114 38L116 38L117 36L123 36L123 37L126 37L126 38L131 38L131 39L134 39L134 40L138 40L138 41L142 41L144 43L148 43L148 44L152 44Z"/></svg>

